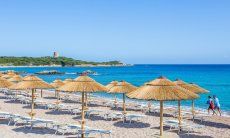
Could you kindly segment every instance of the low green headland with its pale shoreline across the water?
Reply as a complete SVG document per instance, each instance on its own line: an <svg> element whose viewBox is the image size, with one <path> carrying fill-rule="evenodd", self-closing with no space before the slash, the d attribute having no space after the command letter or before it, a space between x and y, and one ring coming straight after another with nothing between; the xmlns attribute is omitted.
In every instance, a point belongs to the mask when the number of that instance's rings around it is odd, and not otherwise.
<svg viewBox="0 0 230 138"><path fill-rule="evenodd" d="M7 67L111 67L131 66L121 61L92 62L68 57L12 57L1 56L0 68Z"/></svg>

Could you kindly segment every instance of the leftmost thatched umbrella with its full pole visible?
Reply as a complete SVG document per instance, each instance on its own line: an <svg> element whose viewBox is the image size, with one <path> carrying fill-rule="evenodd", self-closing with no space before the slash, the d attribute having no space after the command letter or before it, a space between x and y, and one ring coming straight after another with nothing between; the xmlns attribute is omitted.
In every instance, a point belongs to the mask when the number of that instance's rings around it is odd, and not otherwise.
<svg viewBox="0 0 230 138"><path fill-rule="evenodd" d="M48 83L44 82L42 79L38 78L37 76L26 76L23 78L23 80L15 85L12 85L10 89L15 89L15 90L27 90L31 89L32 90L32 103L31 103L31 112L29 115L31 116L31 119L35 116L34 113L34 92L36 89L51 89L53 88L51 85Z"/></svg>

